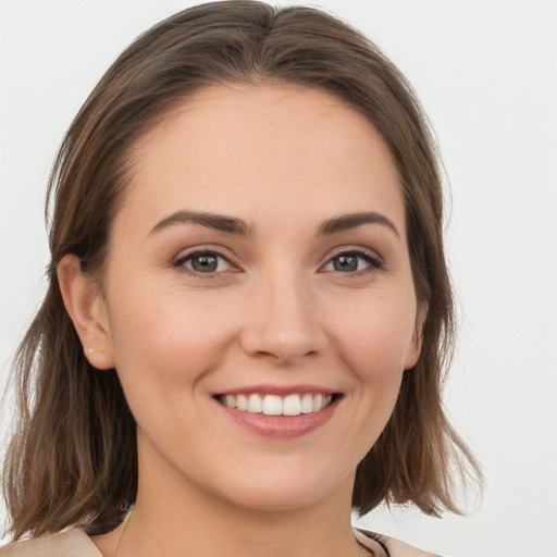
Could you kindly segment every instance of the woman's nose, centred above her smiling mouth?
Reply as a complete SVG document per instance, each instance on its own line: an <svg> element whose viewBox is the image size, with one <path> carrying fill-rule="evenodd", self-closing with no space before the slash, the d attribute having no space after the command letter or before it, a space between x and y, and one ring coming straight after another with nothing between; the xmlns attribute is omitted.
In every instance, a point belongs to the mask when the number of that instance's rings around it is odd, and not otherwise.
<svg viewBox="0 0 557 557"><path fill-rule="evenodd" d="M280 366L299 363L327 345L315 296L298 276L262 280L249 295L240 343L251 357Z"/></svg>

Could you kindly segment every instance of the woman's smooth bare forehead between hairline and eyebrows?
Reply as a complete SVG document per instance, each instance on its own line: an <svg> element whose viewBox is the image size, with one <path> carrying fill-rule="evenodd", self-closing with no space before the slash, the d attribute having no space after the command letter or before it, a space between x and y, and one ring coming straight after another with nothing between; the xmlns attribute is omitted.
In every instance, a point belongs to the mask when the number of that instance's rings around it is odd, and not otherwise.
<svg viewBox="0 0 557 557"><path fill-rule="evenodd" d="M265 219L280 220L311 210L319 219L389 206L404 228L399 181L383 138L323 90L208 87L145 134L134 160L123 212L146 225L184 207L251 221L265 211Z"/></svg>

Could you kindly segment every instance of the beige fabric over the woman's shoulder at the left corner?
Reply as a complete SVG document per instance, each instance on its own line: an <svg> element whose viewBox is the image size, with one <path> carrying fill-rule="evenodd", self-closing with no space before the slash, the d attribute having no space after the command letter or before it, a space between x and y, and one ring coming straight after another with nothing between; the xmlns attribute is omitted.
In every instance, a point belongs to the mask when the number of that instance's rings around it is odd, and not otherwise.
<svg viewBox="0 0 557 557"><path fill-rule="evenodd" d="M102 557L89 536L76 528L23 540L0 549L1 557Z"/></svg>

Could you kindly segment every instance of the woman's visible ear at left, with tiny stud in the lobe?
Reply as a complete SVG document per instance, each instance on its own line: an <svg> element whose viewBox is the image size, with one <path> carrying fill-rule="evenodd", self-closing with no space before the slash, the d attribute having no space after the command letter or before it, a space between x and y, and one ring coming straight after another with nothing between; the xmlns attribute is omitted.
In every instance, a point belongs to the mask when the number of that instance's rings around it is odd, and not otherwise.
<svg viewBox="0 0 557 557"><path fill-rule="evenodd" d="M62 258L57 273L65 309L89 363L99 370L114 368L107 307L98 285L84 274L74 255Z"/></svg>

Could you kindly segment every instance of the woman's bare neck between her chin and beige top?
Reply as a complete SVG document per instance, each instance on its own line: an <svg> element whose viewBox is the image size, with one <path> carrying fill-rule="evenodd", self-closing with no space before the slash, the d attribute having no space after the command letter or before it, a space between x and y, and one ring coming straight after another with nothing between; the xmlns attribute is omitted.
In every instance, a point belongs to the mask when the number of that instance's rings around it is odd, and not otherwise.
<svg viewBox="0 0 557 557"><path fill-rule="evenodd" d="M168 480L168 476L165 478ZM250 509L211 496L187 482L139 480L125 530L114 532L114 557L359 556L351 529L349 476L325 500L302 508ZM117 553L116 553L117 546Z"/></svg>

